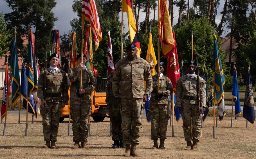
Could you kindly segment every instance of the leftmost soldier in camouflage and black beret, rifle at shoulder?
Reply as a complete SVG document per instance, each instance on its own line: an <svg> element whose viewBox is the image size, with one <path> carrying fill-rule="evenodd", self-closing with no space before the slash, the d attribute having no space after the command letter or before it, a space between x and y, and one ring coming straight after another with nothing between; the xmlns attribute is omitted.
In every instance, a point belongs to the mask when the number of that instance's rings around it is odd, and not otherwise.
<svg viewBox="0 0 256 159"><path fill-rule="evenodd" d="M37 97L41 99L41 115L43 124L44 141L43 148L56 148L57 133L61 108L68 102L68 79L66 73L58 69L59 56L51 54L50 67L46 72L46 97L44 97L44 74L42 71L38 78Z"/></svg>

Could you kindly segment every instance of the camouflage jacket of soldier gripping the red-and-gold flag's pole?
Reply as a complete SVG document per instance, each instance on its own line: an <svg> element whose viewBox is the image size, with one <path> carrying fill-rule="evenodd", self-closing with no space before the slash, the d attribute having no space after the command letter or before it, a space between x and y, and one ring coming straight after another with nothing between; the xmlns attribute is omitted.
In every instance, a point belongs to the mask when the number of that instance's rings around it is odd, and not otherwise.
<svg viewBox="0 0 256 159"><path fill-rule="evenodd" d="M159 90L163 92L161 100L156 100L155 95L158 92L158 76L154 75L153 78L153 91L151 92L151 98L149 104L168 104L168 97L172 94L173 86L171 80L166 77L160 77Z"/></svg>

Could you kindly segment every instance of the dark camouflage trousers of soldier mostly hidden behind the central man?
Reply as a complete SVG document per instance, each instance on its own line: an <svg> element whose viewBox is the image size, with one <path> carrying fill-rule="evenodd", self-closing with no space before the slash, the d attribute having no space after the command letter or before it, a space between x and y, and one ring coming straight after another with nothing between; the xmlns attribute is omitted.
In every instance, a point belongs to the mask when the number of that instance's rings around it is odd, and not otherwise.
<svg viewBox="0 0 256 159"><path fill-rule="evenodd" d="M112 123L112 140L121 140L123 139L122 134L122 117L120 114L120 106L116 104L108 104L110 122Z"/></svg>

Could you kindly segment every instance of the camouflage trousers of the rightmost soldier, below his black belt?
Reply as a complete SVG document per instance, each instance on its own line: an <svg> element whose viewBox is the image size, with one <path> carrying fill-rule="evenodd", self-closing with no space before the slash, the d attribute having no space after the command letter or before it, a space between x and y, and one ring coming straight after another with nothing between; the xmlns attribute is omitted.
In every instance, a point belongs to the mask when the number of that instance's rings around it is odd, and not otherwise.
<svg viewBox="0 0 256 159"><path fill-rule="evenodd" d="M201 120L202 113L198 113L198 107L196 104L185 104L182 103L183 114L181 114L183 120L183 131L185 136L185 141L199 141L201 135ZM191 135L191 121L193 125L192 135ZM193 139L192 139L193 137Z"/></svg>

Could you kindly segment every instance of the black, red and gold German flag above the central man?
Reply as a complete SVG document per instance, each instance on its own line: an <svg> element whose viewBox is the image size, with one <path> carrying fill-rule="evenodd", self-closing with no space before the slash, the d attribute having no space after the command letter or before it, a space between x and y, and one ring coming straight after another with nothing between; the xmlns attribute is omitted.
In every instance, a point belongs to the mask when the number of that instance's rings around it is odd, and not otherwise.
<svg viewBox="0 0 256 159"><path fill-rule="evenodd" d="M131 43L134 43L137 47L138 55L140 56L141 50L140 50L140 38L137 32L135 20L133 17L133 10L131 7L131 1L130 0L122 0L122 12L127 13L128 18L128 25L129 25L129 34Z"/></svg>

